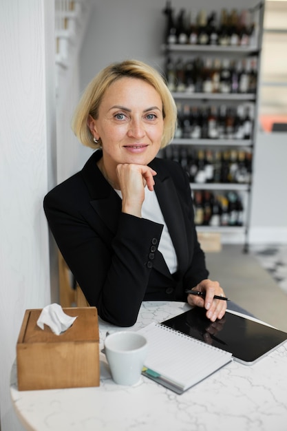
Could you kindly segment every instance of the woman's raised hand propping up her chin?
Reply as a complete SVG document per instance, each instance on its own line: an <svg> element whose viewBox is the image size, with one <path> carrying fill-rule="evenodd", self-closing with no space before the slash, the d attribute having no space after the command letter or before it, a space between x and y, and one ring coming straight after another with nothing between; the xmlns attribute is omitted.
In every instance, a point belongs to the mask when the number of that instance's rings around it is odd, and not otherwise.
<svg viewBox="0 0 287 431"><path fill-rule="evenodd" d="M142 216L142 202L145 200L145 186L153 190L153 171L146 165L133 165L129 163L116 167L120 191L123 196L122 211L136 217Z"/></svg>

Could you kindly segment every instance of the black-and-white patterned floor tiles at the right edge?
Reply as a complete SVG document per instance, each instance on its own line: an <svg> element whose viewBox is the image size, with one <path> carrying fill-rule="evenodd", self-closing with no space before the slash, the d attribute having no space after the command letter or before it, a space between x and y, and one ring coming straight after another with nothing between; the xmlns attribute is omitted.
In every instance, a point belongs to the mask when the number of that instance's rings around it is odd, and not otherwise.
<svg viewBox="0 0 287 431"><path fill-rule="evenodd" d="M251 246L250 251L287 294L287 245Z"/></svg>

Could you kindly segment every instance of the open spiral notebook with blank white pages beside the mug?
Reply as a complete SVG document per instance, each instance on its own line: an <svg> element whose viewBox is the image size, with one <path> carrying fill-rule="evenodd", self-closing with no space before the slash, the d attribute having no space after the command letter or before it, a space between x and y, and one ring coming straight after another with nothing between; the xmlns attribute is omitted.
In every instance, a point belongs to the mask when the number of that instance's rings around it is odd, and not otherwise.
<svg viewBox="0 0 287 431"><path fill-rule="evenodd" d="M178 394L232 361L231 353L162 324L153 322L138 332L149 346L142 374Z"/></svg>

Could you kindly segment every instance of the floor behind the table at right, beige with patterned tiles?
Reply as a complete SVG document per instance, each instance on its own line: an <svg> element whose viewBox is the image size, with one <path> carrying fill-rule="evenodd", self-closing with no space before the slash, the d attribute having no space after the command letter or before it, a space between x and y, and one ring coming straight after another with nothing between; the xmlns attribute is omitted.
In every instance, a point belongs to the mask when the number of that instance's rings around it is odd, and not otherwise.
<svg viewBox="0 0 287 431"><path fill-rule="evenodd" d="M287 245L223 244L206 253L211 280L220 282L232 302L257 319L287 332Z"/></svg>

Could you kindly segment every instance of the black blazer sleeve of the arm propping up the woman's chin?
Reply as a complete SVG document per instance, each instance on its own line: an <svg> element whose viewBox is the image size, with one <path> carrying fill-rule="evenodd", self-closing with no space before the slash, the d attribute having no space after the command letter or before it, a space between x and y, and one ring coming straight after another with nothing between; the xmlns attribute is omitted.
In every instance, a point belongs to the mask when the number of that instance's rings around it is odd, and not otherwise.
<svg viewBox="0 0 287 431"><path fill-rule="evenodd" d="M85 187L75 193L74 183L58 186L45 196L50 229L98 315L112 324L131 326L138 317L153 266L151 246L156 253L163 226L120 212L116 234L111 234L92 209Z"/></svg>

